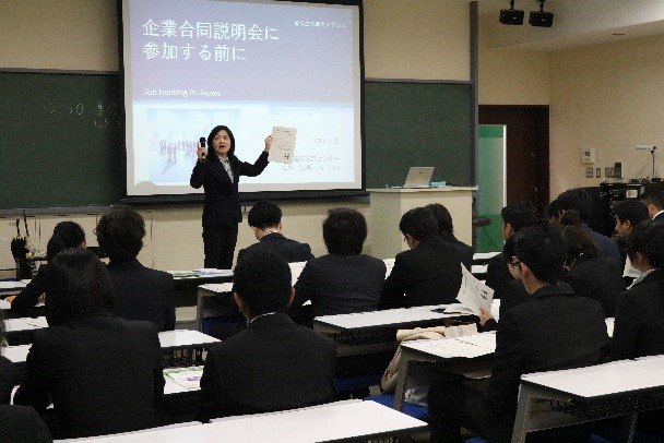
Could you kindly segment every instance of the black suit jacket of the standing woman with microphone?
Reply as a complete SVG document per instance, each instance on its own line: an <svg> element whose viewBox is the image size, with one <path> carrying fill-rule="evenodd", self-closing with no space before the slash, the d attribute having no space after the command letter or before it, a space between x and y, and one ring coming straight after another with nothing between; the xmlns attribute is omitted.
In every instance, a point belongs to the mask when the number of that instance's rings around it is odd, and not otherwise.
<svg viewBox="0 0 664 443"><path fill-rule="evenodd" d="M256 177L268 166L268 153L262 152L256 163L240 161L235 155L228 157L233 170L233 182L215 153L210 153L204 163L197 161L189 184L205 190L203 203L203 228L223 228L242 220L238 182L240 176Z"/></svg>

